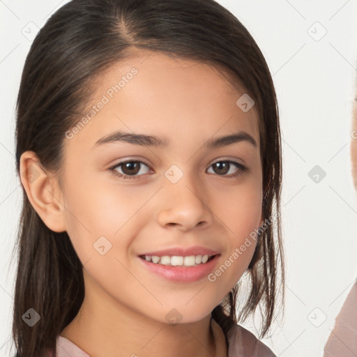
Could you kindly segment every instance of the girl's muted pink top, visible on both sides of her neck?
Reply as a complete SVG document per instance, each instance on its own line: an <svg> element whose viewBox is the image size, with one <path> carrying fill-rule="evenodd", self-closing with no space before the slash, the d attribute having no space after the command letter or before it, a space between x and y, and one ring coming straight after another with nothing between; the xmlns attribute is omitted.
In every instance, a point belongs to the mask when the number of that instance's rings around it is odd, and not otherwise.
<svg viewBox="0 0 357 357"><path fill-rule="evenodd" d="M276 357L266 344L242 326L234 326L228 335L227 357ZM56 339L56 357L90 357L76 344L61 335Z"/></svg>

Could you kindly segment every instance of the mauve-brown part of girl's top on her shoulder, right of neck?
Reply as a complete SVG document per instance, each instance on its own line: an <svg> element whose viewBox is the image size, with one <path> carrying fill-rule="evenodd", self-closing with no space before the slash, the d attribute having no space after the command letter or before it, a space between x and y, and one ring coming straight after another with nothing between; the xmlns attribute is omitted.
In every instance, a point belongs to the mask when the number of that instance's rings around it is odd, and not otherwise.
<svg viewBox="0 0 357 357"><path fill-rule="evenodd" d="M266 344L253 333L239 325L234 325L227 335L229 357L276 357Z"/></svg>

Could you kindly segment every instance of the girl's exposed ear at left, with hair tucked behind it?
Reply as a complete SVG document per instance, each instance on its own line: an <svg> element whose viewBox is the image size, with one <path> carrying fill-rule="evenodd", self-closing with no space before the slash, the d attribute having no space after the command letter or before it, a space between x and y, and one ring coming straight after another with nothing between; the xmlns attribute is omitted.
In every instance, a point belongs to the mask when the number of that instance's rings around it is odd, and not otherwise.
<svg viewBox="0 0 357 357"><path fill-rule="evenodd" d="M22 153L20 174L29 202L45 225L52 231L66 231L65 208L59 184L43 170L33 151Z"/></svg>

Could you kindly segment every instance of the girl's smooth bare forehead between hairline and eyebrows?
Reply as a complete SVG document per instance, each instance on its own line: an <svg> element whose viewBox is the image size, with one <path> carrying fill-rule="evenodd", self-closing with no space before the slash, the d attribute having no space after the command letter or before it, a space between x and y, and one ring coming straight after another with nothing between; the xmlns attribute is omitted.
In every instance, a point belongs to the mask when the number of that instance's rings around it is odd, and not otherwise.
<svg viewBox="0 0 357 357"><path fill-rule="evenodd" d="M245 93L229 73L206 63L149 51L133 52L107 68L92 83L84 115L94 114L75 140L93 146L118 129L196 140L243 129L256 135L258 114L236 104ZM93 105L101 109L93 113Z"/></svg>

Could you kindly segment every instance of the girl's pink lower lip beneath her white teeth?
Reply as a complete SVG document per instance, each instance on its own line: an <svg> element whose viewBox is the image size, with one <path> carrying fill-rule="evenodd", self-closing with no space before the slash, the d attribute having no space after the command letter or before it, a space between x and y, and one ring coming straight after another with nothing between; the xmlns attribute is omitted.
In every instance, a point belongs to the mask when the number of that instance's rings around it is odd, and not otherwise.
<svg viewBox="0 0 357 357"><path fill-rule="evenodd" d="M215 255L215 257L207 263L199 264L197 266L167 266L163 264L154 264L151 261L146 261L140 257L138 258L146 268L153 273L162 276L162 278L175 282L195 282L205 278L211 271L213 271L219 257L220 255Z"/></svg>

